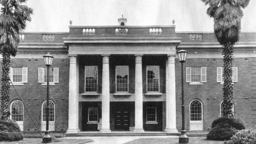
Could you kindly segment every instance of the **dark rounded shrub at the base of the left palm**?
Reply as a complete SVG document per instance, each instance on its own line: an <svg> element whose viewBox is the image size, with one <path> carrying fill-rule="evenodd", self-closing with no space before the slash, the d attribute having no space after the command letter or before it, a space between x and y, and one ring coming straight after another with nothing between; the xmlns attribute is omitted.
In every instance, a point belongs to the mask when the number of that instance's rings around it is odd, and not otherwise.
<svg viewBox="0 0 256 144"><path fill-rule="evenodd" d="M0 141L22 140L23 135L17 122L13 120L0 120Z"/></svg>

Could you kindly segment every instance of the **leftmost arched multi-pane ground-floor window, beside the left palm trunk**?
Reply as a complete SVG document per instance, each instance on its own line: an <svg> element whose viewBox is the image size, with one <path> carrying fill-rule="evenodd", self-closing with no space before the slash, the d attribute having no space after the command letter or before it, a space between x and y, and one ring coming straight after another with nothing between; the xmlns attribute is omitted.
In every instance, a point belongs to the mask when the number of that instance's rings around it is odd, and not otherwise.
<svg viewBox="0 0 256 144"><path fill-rule="evenodd" d="M23 121L23 104L19 100L11 104L11 119L17 122Z"/></svg>

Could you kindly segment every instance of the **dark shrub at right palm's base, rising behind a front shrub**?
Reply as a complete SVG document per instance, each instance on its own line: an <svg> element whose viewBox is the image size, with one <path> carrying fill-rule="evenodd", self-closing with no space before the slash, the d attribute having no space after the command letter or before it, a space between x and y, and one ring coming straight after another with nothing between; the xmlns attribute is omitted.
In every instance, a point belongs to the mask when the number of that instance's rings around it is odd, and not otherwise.
<svg viewBox="0 0 256 144"><path fill-rule="evenodd" d="M217 118L216 120L213 120L211 124L211 128L220 125L220 124L229 124L230 126L234 127L235 129L242 130L245 129L245 125L240 119L231 117L228 118L227 116Z"/></svg>

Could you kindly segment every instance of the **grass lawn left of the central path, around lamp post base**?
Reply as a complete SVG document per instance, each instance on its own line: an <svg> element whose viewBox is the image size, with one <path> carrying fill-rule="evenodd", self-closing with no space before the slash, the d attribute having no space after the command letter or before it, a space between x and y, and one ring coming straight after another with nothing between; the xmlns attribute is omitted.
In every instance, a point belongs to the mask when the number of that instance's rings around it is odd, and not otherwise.
<svg viewBox="0 0 256 144"><path fill-rule="evenodd" d="M61 142L54 142L50 144L85 144L88 142L93 142L91 139L63 139L58 138ZM0 144L44 144L41 143L42 138L24 138L23 140L16 142L0 142Z"/></svg>

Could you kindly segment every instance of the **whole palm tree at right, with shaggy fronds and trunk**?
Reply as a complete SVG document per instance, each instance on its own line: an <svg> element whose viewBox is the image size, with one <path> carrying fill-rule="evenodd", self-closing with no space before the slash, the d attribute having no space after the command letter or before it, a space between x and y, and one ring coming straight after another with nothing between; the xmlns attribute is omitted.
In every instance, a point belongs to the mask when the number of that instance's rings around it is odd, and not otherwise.
<svg viewBox="0 0 256 144"><path fill-rule="evenodd" d="M241 29L241 18L243 11L248 6L250 0L202 0L206 5L207 15L214 19L215 37L222 45L222 55L224 62L224 86L223 86L223 115L233 116L232 99L232 62L233 45L239 41L239 31Z"/></svg>

